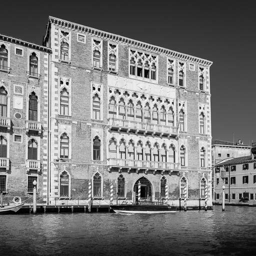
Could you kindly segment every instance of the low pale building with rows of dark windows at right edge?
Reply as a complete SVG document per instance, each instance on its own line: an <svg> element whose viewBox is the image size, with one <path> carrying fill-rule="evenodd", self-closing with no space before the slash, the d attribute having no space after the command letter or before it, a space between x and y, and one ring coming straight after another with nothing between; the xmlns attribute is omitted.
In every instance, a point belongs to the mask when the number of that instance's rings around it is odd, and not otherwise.
<svg viewBox="0 0 256 256"><path fill-rule="evenodd" d="M252 143L251 153L225 159L215 164L214 199L222 200L222 186L225 186L225 200L256 201L256 143Z"/></svg>

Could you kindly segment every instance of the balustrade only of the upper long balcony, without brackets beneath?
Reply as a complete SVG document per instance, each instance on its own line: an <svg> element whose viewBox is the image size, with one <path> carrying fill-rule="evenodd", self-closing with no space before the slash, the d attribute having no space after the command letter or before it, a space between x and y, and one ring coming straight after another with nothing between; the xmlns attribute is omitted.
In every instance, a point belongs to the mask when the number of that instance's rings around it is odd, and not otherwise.
<svg viewBox="0 0 256 256"><path fill-rule="evenodd" d="M177 127L172 127L167 125L129 121L129 120L116 119L116 118L108 118L107 121L108 121L108 125L117 126L121 128L123 127L123 128L139 129L144 131L156 131L156 132L177 134Z"/></svg>

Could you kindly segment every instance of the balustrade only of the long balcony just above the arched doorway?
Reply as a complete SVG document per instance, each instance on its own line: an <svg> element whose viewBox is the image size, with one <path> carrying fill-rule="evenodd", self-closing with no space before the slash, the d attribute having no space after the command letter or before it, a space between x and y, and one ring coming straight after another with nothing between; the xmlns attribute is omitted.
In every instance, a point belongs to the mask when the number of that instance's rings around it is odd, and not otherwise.
<svg viewBox="0 0 256 256"><path fill-rule="evenodd" d="M159 170L179 170L180 163L175 162L155 162L131 159L107 159L107 165L126 168L159 169Z"/></svg>

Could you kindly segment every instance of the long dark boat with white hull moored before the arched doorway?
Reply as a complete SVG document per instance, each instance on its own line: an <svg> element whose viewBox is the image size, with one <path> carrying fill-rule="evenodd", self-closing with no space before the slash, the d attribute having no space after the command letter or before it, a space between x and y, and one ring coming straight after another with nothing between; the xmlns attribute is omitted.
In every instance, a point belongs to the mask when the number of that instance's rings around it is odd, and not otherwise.
<svg viewBox="0 0 256 256"><path fill-rule="evenodd" d="M136 201L110 206L115 213L172 213L176 207L158 201Z"/></svg>

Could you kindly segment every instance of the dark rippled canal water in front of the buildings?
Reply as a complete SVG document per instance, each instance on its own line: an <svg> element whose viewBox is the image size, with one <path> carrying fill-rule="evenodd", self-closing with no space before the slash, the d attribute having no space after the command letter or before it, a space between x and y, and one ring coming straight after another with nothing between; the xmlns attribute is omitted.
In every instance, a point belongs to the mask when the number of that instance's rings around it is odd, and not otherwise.
<svg viewBox="0 0 256 256"><path fill-rule="evenodd" d="M255 255L256 207L0 215L0 255Z"/></svg>

